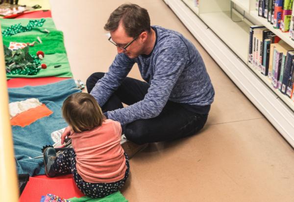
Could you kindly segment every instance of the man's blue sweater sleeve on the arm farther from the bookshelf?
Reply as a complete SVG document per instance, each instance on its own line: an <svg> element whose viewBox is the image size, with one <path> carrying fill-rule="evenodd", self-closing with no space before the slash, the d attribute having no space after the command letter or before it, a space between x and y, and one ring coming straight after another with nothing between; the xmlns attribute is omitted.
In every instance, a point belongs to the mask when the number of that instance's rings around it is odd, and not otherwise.
<svg viewBox="0 0 294 202"><path fill-rule="evenodd" d="M118 89L134 63L133 59L130 59L123 53L115 57L108 72L104 74L90 92L100 106L103 106L112 93Z"/></svg>

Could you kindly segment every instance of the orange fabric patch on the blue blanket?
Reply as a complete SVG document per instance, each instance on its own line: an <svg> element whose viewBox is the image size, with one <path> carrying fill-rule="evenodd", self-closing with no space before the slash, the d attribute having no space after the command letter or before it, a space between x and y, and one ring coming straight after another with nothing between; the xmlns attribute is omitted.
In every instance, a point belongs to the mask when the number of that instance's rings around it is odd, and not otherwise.
<svg viewBox="0 0 294 202"><path fill-rule="evenodd" d="M10 120L12 126L25 127L35 122L38 119L51 115L53 112L46 107L45 104L38 106L36 108L29 109L14 116Z"/></svg>

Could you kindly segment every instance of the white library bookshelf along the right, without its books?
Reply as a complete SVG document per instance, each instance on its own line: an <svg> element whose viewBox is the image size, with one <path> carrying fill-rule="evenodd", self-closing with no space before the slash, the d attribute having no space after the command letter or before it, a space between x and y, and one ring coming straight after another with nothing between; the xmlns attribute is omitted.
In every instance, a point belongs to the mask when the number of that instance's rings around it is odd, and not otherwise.
<svg viewBox="0 0 294 202"><path fill-rule="evenodd" d="M255 0L200 0L195 11L193 0L164 0L197 41L247 98L262 112L281 135L294 147L294 102L272 87L268 77L248 63L249 27L264 25L294 47L288 33L274 29L255 10ZM239 13L245 11L248 20Z"/></svg>

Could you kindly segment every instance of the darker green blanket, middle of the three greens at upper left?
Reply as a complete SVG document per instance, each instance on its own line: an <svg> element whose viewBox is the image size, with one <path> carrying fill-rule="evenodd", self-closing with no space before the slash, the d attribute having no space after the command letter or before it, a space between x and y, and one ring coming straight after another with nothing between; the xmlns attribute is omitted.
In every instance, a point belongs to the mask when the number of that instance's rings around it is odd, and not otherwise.
<svg viewBox="0 0 294 202"><path fill-rule="evenodd" d="M23 35L19 34L5 37L3 36L3 44L9 47L10 42L32 43L38 42L37 37L40 37L42 44L35 43L34 46L29 46L28 52L35 55L38 50L42 50L45 54L66 53L63 43L63 33L61 31L50 31L49 34L40 33L39 35Z"/></svg>

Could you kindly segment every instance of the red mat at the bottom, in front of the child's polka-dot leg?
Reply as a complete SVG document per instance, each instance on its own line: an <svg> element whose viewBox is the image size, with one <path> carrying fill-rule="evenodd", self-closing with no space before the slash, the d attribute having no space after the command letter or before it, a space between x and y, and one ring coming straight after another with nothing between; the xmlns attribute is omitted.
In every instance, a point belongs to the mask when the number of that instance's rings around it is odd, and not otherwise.
<svg viewBox="0 0 294 202"><path fill-rule="evenodd" d="M40 202L46 194L54 194L64 199L85 196L77 188L72 175L47 178L46 176L30 177L19 202Z"/></svg>

